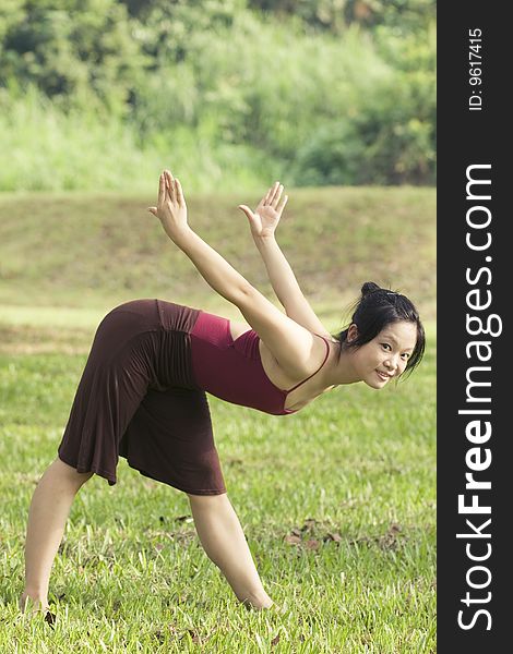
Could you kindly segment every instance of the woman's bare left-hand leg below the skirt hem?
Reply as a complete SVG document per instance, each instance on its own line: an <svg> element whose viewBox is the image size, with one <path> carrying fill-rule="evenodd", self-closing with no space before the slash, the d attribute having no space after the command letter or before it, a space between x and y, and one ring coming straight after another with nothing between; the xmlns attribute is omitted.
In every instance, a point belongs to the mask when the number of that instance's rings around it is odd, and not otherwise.
<svg viewBox="0 0 513 654"><path fill-rule="evenodd" d="M48 608L51 566L64 533L73 499L93 472L79 473L57 458L45 471L34 491L28 510L25 544L25 590L19 606L34 603Z"/></svg>

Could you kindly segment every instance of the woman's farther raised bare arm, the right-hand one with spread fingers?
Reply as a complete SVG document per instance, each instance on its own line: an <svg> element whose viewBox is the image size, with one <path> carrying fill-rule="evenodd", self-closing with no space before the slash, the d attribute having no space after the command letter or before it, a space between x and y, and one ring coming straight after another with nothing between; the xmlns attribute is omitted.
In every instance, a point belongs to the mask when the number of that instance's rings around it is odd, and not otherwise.
<svg viewBox="0 0 513 654"><path fill-rule="evenodd" d="M276 182L254 211L246 205L239 205L239 208L249 220L251 234L262 255L271 284L287 316L309 331L330 338L330 332L305 298L290 264L275 239L275 230L288 199L288 195L282 199L282 194L283 185Z"/></svg>

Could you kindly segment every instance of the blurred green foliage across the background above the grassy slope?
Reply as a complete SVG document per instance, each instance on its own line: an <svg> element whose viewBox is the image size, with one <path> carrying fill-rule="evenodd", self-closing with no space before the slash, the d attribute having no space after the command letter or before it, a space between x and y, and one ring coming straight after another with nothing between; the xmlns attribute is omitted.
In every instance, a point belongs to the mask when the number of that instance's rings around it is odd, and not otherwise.
<svg viewBox="0 0 513 654"><path fill-rule="evenodd" d="M91 130L129 168L189 153L203 190L241 166L250 184L431 184L434 2L3 0L0 189L121 187L87 173L102 146L79 165Z"/></svg>

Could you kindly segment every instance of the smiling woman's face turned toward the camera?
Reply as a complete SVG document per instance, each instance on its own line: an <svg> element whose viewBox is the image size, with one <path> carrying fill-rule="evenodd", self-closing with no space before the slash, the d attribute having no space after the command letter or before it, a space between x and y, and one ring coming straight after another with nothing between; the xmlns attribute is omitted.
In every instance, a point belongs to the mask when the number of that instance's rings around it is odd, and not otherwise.
<svg viewBox="0 0 513 654"><path fill-rule="evenodd" d="M356 325L351 325L348 341L356 338L357 334ZM358 377L371 388L383 388L392 378L404 373L416 343L415 323L391 323L375 338L351 352Z"/></svg>

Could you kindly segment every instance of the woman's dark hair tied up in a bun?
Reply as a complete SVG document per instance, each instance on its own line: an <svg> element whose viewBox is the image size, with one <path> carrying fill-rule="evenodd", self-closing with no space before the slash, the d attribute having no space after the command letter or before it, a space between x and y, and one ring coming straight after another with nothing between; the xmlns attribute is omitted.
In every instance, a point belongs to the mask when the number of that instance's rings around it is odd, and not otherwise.
<svg viewBox="0 0 513 654"><path fill-rule="evenodd" d="M418 311L414 303L395 291L380 288L373 281L366 281L361 287L361 296L353 305L350 323L358 327L358 337L347 342L349 327L343 329L335 338L343 348L360 348L380 334L391 323L407 320L417 326L417 342L411 356L408 358L405 372L410 375L418 366L423 356L426 348L426 335Z"/></svg>

